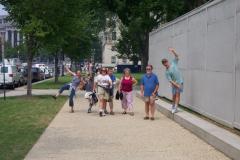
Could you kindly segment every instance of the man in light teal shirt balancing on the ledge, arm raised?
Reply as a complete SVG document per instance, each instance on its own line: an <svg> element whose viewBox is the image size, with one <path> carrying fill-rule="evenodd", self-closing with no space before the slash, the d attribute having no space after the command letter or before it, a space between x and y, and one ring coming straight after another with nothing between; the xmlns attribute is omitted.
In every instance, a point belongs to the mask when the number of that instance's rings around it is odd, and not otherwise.
<svg viewBox="0 0 240 160"><path fill-rule="evenodd" d="M172 85L172 113L176 113L178 111L180 94L183 92L183 78L178 68L178 54L173 48L169 48L169 52L174 55L174 60L170 64L167 59L162 59L162 64L166 67L166 77Z"/></svg>

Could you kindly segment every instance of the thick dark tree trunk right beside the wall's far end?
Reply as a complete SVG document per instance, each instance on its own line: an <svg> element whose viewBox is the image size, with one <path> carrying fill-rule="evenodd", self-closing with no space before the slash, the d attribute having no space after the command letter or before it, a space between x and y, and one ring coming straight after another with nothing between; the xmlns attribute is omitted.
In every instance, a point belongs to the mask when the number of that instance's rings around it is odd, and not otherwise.
<svg viewBox="0 0 240 160"><path fill-rule="evenodd" d="M142 56L141 56L142 72L146 71L148 60L149 60L149 33L145 33Z"/></svg>

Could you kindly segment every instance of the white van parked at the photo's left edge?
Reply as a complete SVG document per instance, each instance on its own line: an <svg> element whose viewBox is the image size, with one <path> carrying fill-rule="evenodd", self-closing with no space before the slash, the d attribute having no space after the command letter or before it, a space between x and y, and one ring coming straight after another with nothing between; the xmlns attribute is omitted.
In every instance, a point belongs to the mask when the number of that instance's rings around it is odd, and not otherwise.
<svg viewBox="0 0 240 160"><path fill-rule="evenodd" d="M11 89L15 89L16 86L20 86L21 82L21 73L16 66L5 65L0 66L0 86L4 85L4 73L5 73L5 85Z"/></svg>

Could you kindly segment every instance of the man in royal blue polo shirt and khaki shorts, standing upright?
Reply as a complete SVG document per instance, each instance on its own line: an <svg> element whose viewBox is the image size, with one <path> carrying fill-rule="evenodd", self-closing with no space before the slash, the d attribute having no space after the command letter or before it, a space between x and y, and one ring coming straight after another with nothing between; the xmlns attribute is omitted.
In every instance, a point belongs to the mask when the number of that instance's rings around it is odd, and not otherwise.
<svg viewBox="0 0 240 160"><path fill-rule="evenodd" d="M155 113L155 99L159 88L157 76L152 72L153 66L146 67L146 74L141 79L141 96L145 100L145 113L144 120L154 120ZM149 117L150 112L150 117Z"/></svg>

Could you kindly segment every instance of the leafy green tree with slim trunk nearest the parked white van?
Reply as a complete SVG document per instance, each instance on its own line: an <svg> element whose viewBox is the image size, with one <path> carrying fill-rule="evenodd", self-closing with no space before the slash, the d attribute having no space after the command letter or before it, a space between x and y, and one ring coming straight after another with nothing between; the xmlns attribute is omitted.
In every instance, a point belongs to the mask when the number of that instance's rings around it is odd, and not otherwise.
<svg viewBox="0 0 240 160"><path fill-rule="evenodd" d="M100 4L97 2L95 0L0 0L9 13L9 20L14 22L25 36L28 62L27 95L31 95L32 91L31 68L34 55L40 48L46 48L51 54L56 55L55 58L66 45L71 46L73 50L76 45L75 42L70 43L70 41L74 39L72 37L74 34L77 33L82 37L85 33L93 32L93 29L100 25L98 19L101 16L97 17L96 13L101 7L94 9ZM88 29L86 26L90 23L97 25ZM79 31L82 34L78 34ZM81 49L89 46L88 43L80 45L85 45L78 46Z"/></svg>

